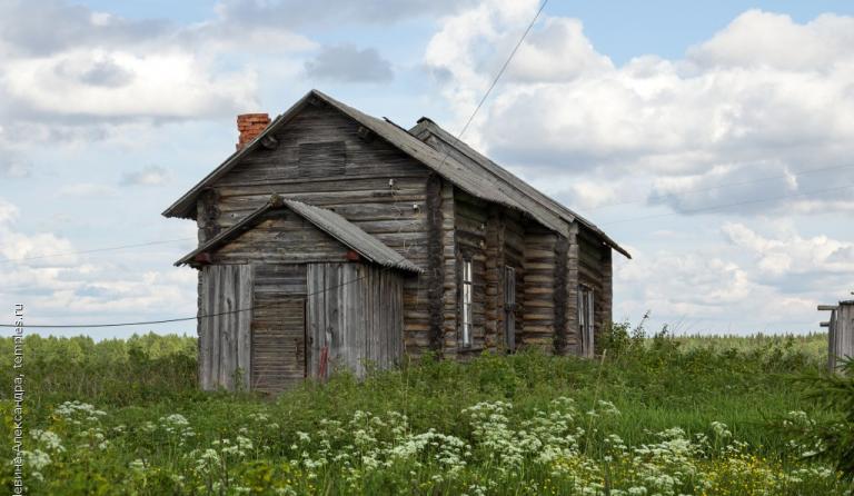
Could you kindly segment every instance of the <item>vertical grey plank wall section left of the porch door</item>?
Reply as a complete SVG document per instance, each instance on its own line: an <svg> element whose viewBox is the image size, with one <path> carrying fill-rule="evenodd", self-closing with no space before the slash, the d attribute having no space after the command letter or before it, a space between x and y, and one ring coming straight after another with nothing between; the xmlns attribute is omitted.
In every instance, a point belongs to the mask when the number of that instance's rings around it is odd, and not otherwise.
<svg viewBox="0 0 854 496"><path fill-rule="evenodd" d="M199 383L202 389L249 388L254 270L248 265L207 266L201 277Z"/></svg>

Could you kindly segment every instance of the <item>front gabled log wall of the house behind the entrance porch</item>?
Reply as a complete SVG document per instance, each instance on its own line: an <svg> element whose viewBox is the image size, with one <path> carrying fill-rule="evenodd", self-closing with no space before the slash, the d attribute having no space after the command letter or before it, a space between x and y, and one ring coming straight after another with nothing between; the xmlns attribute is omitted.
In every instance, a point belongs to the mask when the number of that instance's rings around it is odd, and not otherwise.
<svg viewBox="0 0 854 496"><path fill-rule="evenodd" d="M199 238L208 239L212 232L239 221L268 201L271 194L334 209L426 270L420 277L405 279L404 326L407 351L417 354L427 349L430 345L430 321L424 311L429 296L427 288L430 277L443 278L441 274L427 270L429 170L383 139L366 133L364 129L360 131L357 122L322 102L307 106L282 126L275 138L278 145L274 149L258 147L206 194L206 200L200 201L198 207L203 212L197 215ZM305 157L300 162L300 146L332 142L342 142L344 146L320 147L317 150L334 162L328 170L325 162L306 160ZM301 150L305 156L306 151L312 151L312 147L304 146ZM342 160L342 165L336 162L338 159ZM450 209L453 214L453 202L445 202L447 188L449 185L443 185L441 210L447 214ZM447 218L445 216L443 220L446 232L444 250L448 249ZM449 219L453 221L453 215ZM234 262L249 261L255 257L248 252L230 252L229 256ZM239 257L242 257L240 261ZM445 257L447 274L447 254ZM226 262L225 259L222 262ZM449 324L455 325L453 319L450 323L448 319L447 297L446 294L446 330Z"/></svg>

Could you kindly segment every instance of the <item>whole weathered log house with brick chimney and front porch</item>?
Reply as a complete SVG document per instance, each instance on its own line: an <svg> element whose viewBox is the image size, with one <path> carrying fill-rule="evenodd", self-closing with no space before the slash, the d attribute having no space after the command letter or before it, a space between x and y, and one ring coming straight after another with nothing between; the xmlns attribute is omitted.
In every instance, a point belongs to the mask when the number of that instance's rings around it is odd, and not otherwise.
<svg viewBox="0 0 854 496"><path fill-rule="evenodd" d="M592 222L429 119L411 129L310 91L163 215L195 219L203 388L276 391L433 350L590 356L612 318Z"/></svg>

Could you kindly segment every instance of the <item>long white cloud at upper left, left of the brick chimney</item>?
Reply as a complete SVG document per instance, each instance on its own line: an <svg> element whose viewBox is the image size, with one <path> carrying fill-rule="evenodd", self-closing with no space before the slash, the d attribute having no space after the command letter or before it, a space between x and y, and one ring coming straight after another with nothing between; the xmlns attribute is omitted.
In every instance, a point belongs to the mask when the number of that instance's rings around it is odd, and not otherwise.
<svg viewBox="0 0 854 496"><path fill-rule="evenodd" d="M72 49L4 66L7 93L44 113L198 119L257 105L254 71L215 75L210 61L179 50Z"/></svg>

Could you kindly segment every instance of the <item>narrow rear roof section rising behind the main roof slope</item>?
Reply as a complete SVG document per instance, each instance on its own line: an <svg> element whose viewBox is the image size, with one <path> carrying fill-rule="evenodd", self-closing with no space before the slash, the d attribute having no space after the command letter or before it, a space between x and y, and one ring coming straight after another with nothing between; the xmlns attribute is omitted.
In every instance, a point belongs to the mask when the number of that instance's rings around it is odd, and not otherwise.
<svg viewBox="0 0 854 496"><path fill-rule="evenodd" d="M596 235L602 237L606 245L610 246L615 250L625 255L627 258L632 258L632 255L629 255L628 251L626 251L623 247L617 245L616 241L610 239L610 237L605 232L603 232L602 229L596 227L595 224L590 222L589 220L585 219L584 217L579 216L573 210L569 210L568 208L566 208L566 206L564 206L559 201L555 200L548 195L545 195L543 191L538 190L537 188L534 188L533 186L522 180L518 176L514 175L513 172L499 166L498 163L491 161L485 155L469 147L468 143L466 143L465 141L457 139L457 137L455 137L450 132L443 129L439 125L434 122L431 119L427 117L421 117L420 119L418 119L418 123L413 129L410 129L409 132L411 132L413 135L418 137L418 139L424 141L427 141L427 138L429 138L430 136L436 137L437 139L441 140L446 147L450 147L457 150L463 157L467 159L466 161L470 162L469 163L470 166L480 167L483 168L483 171L485 173L491 175L498 178L499 180L506 182L510 188L516 190L517 195L525 197L526 200L529 200L530 202L536 204L540 208L546 208L552 210L556 215L560 216L560 218L563 218L567 222L577 220L578 224L590 229Z"/></svg>

